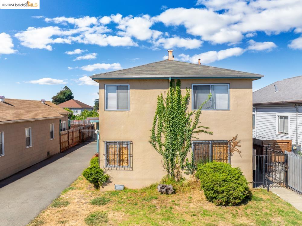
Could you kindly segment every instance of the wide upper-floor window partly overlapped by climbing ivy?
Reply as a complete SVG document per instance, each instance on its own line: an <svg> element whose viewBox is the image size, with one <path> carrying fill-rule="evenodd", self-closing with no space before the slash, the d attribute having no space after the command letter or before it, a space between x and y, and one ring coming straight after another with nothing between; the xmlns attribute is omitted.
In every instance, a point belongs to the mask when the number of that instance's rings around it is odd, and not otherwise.
<svg viewBox="0 0 302 226"><path fill-rule="evenodd" d="M198 109L212 94L202 109L229 110L229 84L193 84L193 109Z"/></svg>

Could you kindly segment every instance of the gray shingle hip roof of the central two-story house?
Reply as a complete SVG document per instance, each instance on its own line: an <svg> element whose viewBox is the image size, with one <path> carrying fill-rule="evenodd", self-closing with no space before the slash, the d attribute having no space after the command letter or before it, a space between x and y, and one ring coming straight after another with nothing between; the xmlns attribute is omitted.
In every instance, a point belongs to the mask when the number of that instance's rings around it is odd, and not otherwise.
<svg viewBox="0 0 302 226"><path fill-rule="evenodd" d="M113 78L188 78L188 77L244 77L259 79L259 74L240 72L207 65L198 65L176 60L163 60L133 68L90 76L92 79Z"/></svg>

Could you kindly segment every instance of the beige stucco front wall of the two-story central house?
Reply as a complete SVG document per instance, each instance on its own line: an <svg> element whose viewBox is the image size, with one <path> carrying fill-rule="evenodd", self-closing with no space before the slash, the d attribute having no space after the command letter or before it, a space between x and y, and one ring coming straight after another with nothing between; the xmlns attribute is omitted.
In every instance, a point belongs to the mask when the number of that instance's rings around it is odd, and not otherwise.
<svg viewBox="0 0 302 226"><path fill-rule="evenodd" d="M104 166L104 141L132 141L133 170L107 170L111 183L140 188L159 181L164 175L162 156L149 144L150 129L157 96L166 94L168 80L99 80L100 95L100 166ZM231 164L240 167L252 182L252 80L251 79L183 79L182 92L191 84L230 84L230 110L202 111L201 125L209 126L213 135L200 134L200 140L229 140L238 134L241 155L234 154ZM104 84L130 84L130 111L104 110ZM191 100L189 110L191 110Z"/></svg>

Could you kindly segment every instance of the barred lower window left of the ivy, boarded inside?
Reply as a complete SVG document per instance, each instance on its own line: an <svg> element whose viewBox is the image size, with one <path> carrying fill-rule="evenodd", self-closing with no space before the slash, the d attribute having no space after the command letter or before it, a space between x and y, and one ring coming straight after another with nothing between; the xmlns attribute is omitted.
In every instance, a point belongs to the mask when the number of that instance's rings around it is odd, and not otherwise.
<svg viewBox="0 0 302 226"><path fill-rule="evenodd" d="M131 141L104 142L104 168L132 169Z"/></svg>

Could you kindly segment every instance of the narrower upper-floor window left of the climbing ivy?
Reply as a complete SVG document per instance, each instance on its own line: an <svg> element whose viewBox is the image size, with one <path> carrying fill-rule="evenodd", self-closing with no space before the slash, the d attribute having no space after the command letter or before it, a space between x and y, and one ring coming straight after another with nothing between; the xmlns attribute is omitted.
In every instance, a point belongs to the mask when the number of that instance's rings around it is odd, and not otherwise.
<svg viewBox="0 0 302 226"><path fill-rule="evenodd" d="M129 110L129 85L105 85L105 110Z"/></svg>

